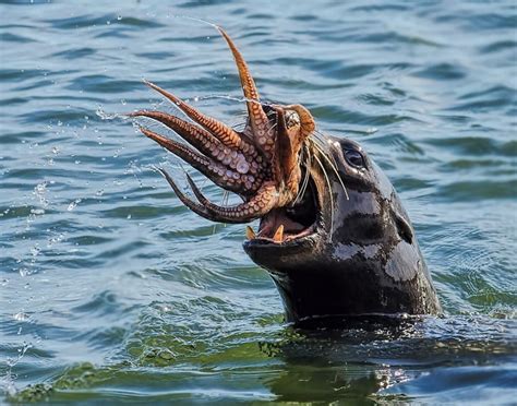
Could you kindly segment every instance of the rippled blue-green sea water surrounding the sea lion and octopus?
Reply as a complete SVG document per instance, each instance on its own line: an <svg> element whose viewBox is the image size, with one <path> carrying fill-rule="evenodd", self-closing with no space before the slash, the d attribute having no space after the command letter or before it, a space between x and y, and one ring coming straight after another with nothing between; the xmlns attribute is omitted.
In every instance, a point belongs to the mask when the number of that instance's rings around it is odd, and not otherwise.
<svg viewBox="0 0 517 406"><path fill-rule="evenodd" d="M296 330L244 227L176 199L154 168L179 162L118 114L175 111L147 79L242 122L199 19L374 156L443 318ZM0 404L514 403L516 88L512 0L0 1Z"/></svg>

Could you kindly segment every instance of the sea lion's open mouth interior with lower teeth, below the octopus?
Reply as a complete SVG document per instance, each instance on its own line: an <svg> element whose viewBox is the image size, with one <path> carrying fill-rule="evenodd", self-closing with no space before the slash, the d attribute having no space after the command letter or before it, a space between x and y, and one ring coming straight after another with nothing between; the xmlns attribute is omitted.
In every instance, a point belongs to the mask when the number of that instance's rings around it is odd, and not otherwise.
<svg viewBox="0 0 517 406"><path fill-rule="evenodd" d="M292 205L274 208L261 217L256 234L249 227L244 248L290 246L314 235L322 218L322 211L317 188L311 177L304 189L304 193Z"/></svg>

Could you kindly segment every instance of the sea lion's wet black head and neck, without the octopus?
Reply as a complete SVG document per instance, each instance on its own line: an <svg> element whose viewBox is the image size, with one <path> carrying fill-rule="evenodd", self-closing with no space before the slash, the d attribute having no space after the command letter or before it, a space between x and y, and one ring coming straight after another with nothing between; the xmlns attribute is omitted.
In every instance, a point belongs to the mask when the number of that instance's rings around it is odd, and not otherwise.
<svg viewBox="0 0 517 406"><path fill-rule="evenodd" d="M245 252L278 287L287 320L440 313L413 228L392 183L358 143L325 141L346 192L320 154L328 180L313 162L316 230L282 243L244 242Z"/></svg>

